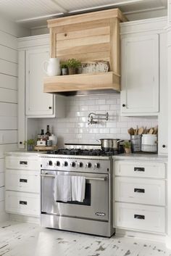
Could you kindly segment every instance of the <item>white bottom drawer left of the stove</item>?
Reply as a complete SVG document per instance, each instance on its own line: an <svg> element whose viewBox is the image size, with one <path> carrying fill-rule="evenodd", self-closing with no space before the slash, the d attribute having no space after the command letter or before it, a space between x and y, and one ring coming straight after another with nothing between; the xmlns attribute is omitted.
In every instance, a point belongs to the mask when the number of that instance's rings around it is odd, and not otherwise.
<svg viewBox="0 0 171 256"><path fill-rule="evenodd" d="M23 215L40 215L40 196L22 192L5 192L5 210Z"/></svg>

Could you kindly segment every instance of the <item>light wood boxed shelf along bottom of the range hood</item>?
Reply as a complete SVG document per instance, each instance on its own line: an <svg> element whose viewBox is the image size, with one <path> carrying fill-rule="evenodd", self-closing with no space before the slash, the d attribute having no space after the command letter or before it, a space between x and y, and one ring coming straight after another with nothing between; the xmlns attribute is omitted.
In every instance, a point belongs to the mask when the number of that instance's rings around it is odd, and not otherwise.
<svg viewBox="0 0 171 256"><path fill-rule="evenodd" d="M80 75L58 75L44 78L44 92L89 91L112 89L120 91L120 75L113 72Z"/></svg>

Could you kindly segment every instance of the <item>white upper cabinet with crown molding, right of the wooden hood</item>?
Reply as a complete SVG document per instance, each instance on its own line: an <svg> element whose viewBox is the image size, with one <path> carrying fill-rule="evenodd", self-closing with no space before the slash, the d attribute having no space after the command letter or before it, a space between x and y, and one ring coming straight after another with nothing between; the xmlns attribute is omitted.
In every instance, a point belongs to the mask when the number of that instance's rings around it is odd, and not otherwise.
<svg viewBox="0 0 171 256"><path fill-rule="evenodd" d="M121 25L121 115L159 115L165 18Z"/></svg>

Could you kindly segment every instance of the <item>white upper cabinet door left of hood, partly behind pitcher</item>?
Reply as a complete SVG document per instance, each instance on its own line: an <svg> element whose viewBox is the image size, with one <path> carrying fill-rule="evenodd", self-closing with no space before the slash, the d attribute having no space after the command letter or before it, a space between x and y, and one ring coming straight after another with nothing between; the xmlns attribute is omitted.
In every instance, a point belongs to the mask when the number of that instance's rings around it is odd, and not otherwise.
<svg viewBox="0 0 171 256"><path fill-rule="evenodd" d="M43 62L48 59L47 49L26 51L26 115L54 114L54 95L43 93Z"/></svg>

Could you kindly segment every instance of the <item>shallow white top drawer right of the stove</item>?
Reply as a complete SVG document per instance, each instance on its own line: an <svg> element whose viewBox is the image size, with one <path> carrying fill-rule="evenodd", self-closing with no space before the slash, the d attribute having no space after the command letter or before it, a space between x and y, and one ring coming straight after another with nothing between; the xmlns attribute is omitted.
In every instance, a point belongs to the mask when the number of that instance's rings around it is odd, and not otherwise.
<svg viewBox="0 0 171 256"><path fill-rule="evenodd" d="M116 176L165 178L165 164L163 162L115 161L114 173Z"/></svg>

